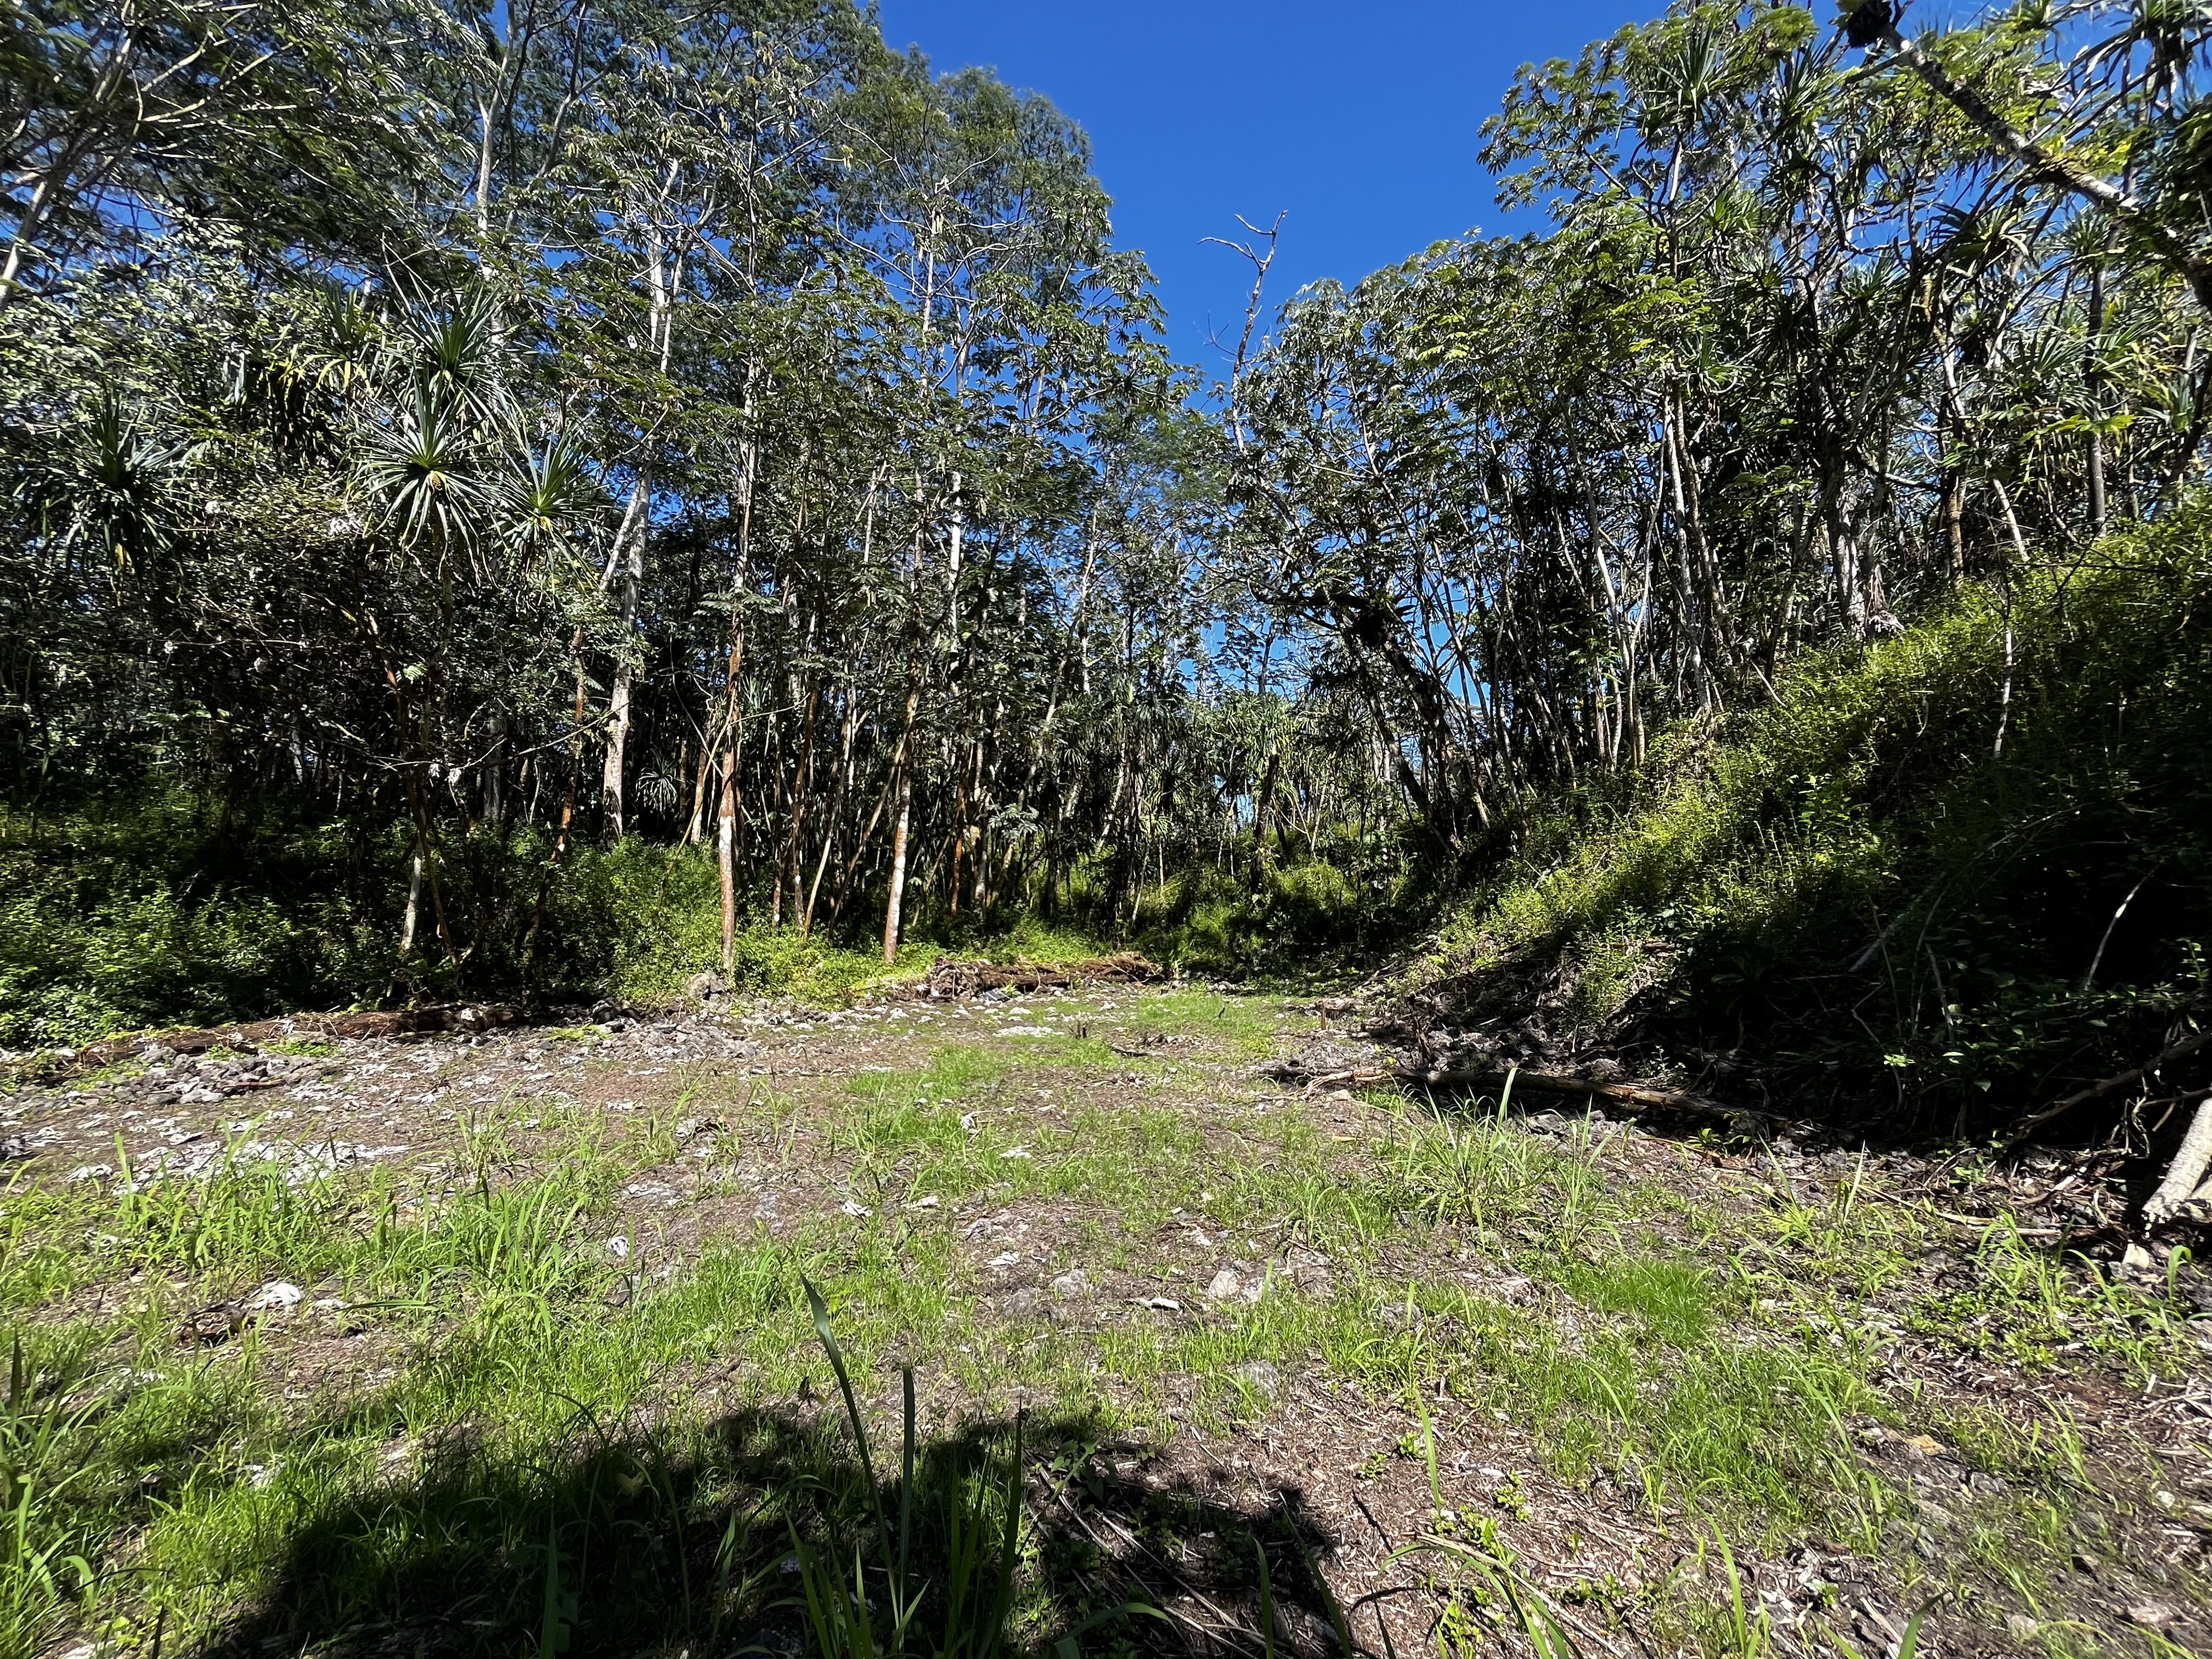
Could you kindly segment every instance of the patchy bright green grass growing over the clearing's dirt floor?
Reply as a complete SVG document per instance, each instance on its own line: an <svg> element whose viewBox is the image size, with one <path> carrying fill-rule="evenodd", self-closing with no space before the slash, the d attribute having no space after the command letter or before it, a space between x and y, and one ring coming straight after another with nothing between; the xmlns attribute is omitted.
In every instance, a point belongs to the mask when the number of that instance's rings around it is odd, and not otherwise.
<svg viewBox="0 0 2212 1659"><path fill-rule="evenodd" d="M805 1093L692 1071L670 1079L675 1108L511 1099L456 1117L436 1172L303 1172L241 1141L192 1179L133 1179L124 1157L111 1181L20 1177L0 1199L0 1340L20 1356L0 1418L0 1655L62 1628L117 1655L150 1652L157 1630L177 1652L279 1635L319 1650L363 1619L431 1648L478 1630L509 1650L721 1650L799 1617L843 1659L867 1624L843 1588L856 1562L878 1615L922 1595L887 1577L874 1522L907 1493L938 1597L922 1597L911 1648L978 1652L945 1595L967 1573L995 1606L991 1562L1013 1562L1011 1590L975 1628L1141 1646L1137 1584L1108 1557L1053 1555L1075 1546L1024 1520L1046 1515L1040 1489L1004 1495L1018 1409L1033 1469L1060 1460L1077 1498L1104 1478L1161 1528L1159 1548L1259 1533L1267 1595L1292 1595L1307 1586L1298 1533L1099 1475L1108 1442L1234 1438L1267 1418L1265 1367L1405 1425L1429 1469L1427 1526L1449 1540L1420 1571L1469 1639L1500 1619L1548 1628L1555 1593L1515 1566L1546 1500L1522 1475L1469 1493L1438 1467L1431 1413L1458 1425L1455 1444L1502 1416L1535 1458L1528 1480L1599 1482L1650 1524L1714 1540L1674 1588L1590 1590L1562 1617L1641 1606L1708 1650L1750 1652L1756 1597L1730 1597L1723 1562L1825 1533L1931 1588L1997 1584L2042 1606L2051 1564L2110 1502L2086 1495L2112 1480L2110 1447L2090 1451L2055 1413L1916 1402L1900 1336L2031 1374L2172 1378L2194 1354L2170 1301L2051 1263L2008 1228L1962 1250L1865 1164L1792 1186L1754 1155L1661 1179L1586 1121L1546 1137L1396 1097L1356 1106L1338 1139L1336 1108L1243 1082L1263 1037L1303 1024L1279 998L1170 991L1053 1013L1077 1015L1102 1035L922 1035L907 1068ZM1194 1037L1175 1075L1115 1051L1141 1031ZM586 1064L622 1062L593 1048ZM717 1168L743 1148L865 1214L734 1225L648 1263L626 1188L686 1155L679 1113L708 1110ZM1692 1152L1668 1168L1710 1170ZM914 1208L925 1197L936 1206ZM1057 1217L1053 1272L1126 1272L1194 1316L1137 1307L1068 1327L1009 1312L964 1243L991 1214ZM1256 1303L1214 1305L1177 1276L1197 1230L1210 1259L1254 1263ZM1958 1267L1931 1285L1920 1263L1938 1245ZM1296 1252L1325 1259L1327 1281L1301 1287ZM212 1349L177 1343L197 1310L265 1279L343 1307L301 1327L312 1336L248 1325ZM849 1425L792 1407L838 1387L807 1281L849 1367ZM920 1378L916 1471L869 1473L856 1433L905 1442L902 1367ZM2011 1482L1955 1562L1918 1555L1911 1495L1863 1458L1867 1425L1933 1431ZM1234 1559L1223 1546L1221 1571L1243 1573ZM1256 1593L1250 1573L1234 1582ZM889 1641L880 1619L872 1630Z"/></svg>

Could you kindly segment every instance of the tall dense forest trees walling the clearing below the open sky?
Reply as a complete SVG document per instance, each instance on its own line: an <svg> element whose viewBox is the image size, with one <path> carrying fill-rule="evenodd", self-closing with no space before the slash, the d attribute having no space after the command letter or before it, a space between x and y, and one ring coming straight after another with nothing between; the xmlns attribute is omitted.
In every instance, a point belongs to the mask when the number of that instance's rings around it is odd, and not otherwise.
<svg viewBox="0 0 2212 1659"><path fill-rule="evenodd" d="M2197 7L1683 0L1484 124L1546 230L1219 374L1079 128L845 0L4 29L7 787L403 825L418 989L577 838L712 845L726 964L1451 869L2201 476Z"/></svg>

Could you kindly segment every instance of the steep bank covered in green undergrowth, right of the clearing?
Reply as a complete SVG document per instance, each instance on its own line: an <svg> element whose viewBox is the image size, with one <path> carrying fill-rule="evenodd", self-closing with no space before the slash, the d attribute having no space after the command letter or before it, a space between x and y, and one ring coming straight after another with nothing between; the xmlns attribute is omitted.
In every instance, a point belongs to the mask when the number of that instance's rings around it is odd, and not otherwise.
<svg viewBox="0 0 2212 1659"><path fill-rule="evenodd" d="M2205 995L2208 619L2197 507L1803 659L1517 823L1416 973L1940 1128L2135 1064Z"/></svg>

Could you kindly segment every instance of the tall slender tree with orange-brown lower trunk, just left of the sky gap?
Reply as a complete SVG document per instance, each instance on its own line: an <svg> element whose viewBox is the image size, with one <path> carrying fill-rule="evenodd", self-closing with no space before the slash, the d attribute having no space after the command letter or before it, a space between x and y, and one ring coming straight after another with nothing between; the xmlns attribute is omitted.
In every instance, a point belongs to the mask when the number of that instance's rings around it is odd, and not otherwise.
<svg viewBox="0 0 2212 1659"><path fill-rule="evenodd" d="M1060 526L1086 515L1099 407L1157 398L1164 372L1144 265L1108 248L1088 144L1044 100L978 71L931 80L907 60L863 88L856 150L865 217L847 241L907 319L885 338L885 369L925 411L880 484L902 526L889 956L925 768L947 902L960 900L962 860L971 902L989 885L1004 739L1033 701L1004 646L1042 599Z"/></svg>

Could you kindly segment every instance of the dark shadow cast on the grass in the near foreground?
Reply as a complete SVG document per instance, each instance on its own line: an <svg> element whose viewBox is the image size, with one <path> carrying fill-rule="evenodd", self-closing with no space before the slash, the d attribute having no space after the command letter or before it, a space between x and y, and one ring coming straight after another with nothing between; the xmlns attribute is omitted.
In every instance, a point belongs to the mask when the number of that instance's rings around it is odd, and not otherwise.
<svg viewBox="0 0 2212 1659"><path fill-rule="evenodd" d="M914 1559L929 1584L909 1652L940 1648L947 1522L960 1493L1004 1489L1006 1418L927 1440L916 1458ZM1022 1573L1009 1646L1077 1652L1338 1652L1316 1559L1334 1548L1296 1489L1241 1509L1166 1475L1093 1416L1022 1422ZM898 1469L876 1469L898 1524ZM281 1544L270 1593L199 1652L248 1655L799 1655L796 1544L845 1582L865 1564L883 1628L867 1478L843 1416L743 1407L697 1425L584 1422L555 1453L467 1431L414 1469L334 1493ZM993 1537L995 1548L995 1537ZM1267 1595L1261 1595L1265 1557Z"/></svg>

